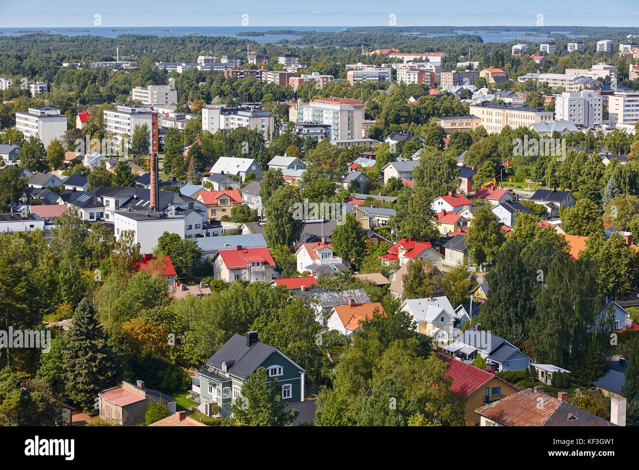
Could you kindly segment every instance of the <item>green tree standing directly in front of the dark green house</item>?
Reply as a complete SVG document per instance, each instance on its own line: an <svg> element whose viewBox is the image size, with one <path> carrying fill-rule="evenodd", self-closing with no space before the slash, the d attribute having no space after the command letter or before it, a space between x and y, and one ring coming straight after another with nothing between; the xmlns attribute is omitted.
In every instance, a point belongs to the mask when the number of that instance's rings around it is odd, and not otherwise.
<svg viewBox="0 0 639 470"><path fill-rule="evenodd" d="M242 396L231 405L235 423L243 426L291 425L297 411L284 411L286 403L281 402L280 390L277 378L269 382L266 369L259 367L244 382Z"/></svg>

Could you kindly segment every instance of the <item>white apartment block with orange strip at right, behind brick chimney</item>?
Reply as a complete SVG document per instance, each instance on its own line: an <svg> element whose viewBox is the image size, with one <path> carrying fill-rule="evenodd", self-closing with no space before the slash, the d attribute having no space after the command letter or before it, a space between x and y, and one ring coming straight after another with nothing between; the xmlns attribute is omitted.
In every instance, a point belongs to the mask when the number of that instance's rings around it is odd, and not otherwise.
<svg viewBox="0 0 639 470"><path fill-rule="evenodd" d="M122 142L126 135L130 139L133 136L135 126L145 125L149 129L149 152L158 151L158 112L151 106L121 104L116 109L104 110L104 130L118 141Z"/></svg>

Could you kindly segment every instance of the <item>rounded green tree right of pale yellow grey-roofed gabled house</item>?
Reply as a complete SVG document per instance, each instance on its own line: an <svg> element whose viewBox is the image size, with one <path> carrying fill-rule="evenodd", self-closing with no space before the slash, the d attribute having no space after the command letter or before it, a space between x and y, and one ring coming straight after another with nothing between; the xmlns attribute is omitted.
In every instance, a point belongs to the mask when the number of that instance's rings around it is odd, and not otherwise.
<svg viewBox="0 0 639 470"><path fill-rule="evenodd" d="M493 211L484 207L477 209L466 234L470 259L477 264L493 261L504 240L504 230L495 220Z"/></svg>

